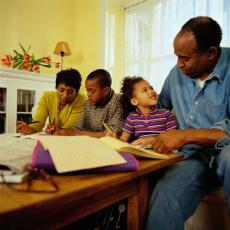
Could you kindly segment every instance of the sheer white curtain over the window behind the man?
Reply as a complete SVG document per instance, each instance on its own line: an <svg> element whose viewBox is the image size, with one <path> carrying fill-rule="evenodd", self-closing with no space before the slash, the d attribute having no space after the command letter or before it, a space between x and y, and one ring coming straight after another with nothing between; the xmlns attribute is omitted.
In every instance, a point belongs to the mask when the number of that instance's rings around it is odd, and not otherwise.
<svg viewBox="0 0 230 230"><path fill-rule="evenodd" d="M125 76L142 76L159 93L176 63L176 33L199 15L215 19L223 30L221 45L230 46L229 0L142 0L125 8Z"/></svg>

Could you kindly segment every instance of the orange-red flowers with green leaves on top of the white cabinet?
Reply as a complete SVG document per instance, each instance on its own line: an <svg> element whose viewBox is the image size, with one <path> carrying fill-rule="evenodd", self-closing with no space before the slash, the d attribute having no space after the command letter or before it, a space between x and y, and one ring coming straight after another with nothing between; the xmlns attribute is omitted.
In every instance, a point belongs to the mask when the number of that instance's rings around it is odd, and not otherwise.
<svg viewBox="0 0 230 230"><path fill-rule="evenodd" d="M60 68L60 62L52 62L50 56L35 58L34 54L30 55L29 50L31 48L31 45L28 47L27 50L20 43L19 45L22 49L22 52L13 50L13 52L15 53L14 56L11 56L9 54L5 55L4 58L1 59L4 66L37 73L40 72L40 66L46 68L50 68L52 66L57 69Z"/></svg>

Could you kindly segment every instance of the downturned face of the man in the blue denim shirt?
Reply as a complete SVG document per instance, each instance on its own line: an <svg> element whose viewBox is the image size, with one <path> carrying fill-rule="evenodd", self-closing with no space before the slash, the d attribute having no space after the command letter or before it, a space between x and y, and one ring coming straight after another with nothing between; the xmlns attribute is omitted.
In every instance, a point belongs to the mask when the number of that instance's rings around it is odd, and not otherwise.
<svg viewBox="0 0 230 230"><path fill-rule="evenodd" d="M201 78L210 72L208 52L200 53L194 35L191 32L177 34L174 40L174 53L177 66L190 78Z"/></svg>

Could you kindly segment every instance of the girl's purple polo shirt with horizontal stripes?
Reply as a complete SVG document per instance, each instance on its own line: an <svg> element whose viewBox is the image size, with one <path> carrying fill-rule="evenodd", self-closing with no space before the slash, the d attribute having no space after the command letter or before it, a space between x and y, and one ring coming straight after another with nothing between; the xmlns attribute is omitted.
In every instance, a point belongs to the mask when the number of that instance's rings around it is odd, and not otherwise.
<svg viewBox="0 0 230 230"><path fill-rule="evenodd" d="M177 122L172 111L153 108L148 116L145 116L138 109L129 113L123 126L123 131L139 138L157 135L175 128L177 128Z"/></svg>

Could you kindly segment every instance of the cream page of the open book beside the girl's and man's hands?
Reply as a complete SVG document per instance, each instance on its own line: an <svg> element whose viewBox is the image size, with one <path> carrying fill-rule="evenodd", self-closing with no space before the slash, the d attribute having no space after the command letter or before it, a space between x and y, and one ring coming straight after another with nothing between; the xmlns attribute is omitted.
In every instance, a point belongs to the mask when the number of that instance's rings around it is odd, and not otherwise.
<svg viewBox="0 0 230 230"><path fill-rule="evenodd" d="M131 145L127 142L123 142L119 139L109 137L109 136L101 137L100 140L106 143L107 145L110 145L116 150L130 152L136 156L154 158L154 159L156 158L157 159L168 159L170 157L170 154L161 154L161 153L155 152L154 150L150 150L150 149L147 150L141 147L138 148L137 146Z"/></svg>

